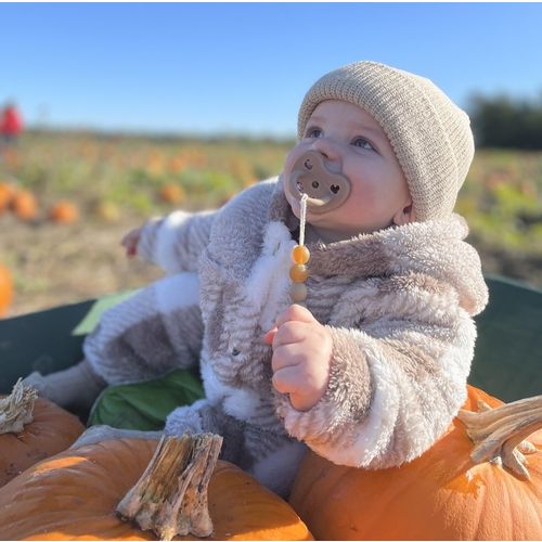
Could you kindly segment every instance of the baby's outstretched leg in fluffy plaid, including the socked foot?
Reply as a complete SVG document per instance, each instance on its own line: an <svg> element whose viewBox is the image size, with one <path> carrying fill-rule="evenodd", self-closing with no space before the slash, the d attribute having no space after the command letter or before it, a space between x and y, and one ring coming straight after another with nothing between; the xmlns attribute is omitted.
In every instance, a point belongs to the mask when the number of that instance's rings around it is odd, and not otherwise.
<svg viewBox="0 0 542 542"><path fill-rule="evenodd" d="M105 311L85 360L25 383L70 410L88 410L107 384L149 380L197 362L203 337L195 273L168 276Z"/></svg>

